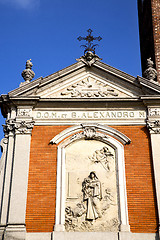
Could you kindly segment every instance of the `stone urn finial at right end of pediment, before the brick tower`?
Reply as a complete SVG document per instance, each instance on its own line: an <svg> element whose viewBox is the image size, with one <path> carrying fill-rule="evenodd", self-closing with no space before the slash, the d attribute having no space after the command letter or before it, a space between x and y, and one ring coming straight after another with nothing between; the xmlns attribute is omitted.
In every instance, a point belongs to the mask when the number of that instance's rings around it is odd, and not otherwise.
<svg viewBox="0 0 160 240"><path fill-rule="evenodd" d="M153 68L154 62L151 60L151 58L147 59L147 68L143 73L143 76L149 80L155 80L157 76L157 71L155 68Z"/></svg>

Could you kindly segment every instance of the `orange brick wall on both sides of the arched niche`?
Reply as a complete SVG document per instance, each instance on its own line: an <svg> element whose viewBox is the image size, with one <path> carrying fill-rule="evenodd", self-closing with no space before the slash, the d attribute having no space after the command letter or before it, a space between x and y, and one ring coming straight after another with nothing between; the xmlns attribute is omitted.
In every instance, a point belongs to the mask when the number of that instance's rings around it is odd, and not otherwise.
<svg viewBox="0 0 160 240"><path fill-rule="evenodd" d="M32 132L26 228L51 232L55 222L56 146L50 140L69 126L35 126ZM148 132L143 126L114 126L132 143L125 146L129 223L132 232L156 232L158 224Z"/></svg>

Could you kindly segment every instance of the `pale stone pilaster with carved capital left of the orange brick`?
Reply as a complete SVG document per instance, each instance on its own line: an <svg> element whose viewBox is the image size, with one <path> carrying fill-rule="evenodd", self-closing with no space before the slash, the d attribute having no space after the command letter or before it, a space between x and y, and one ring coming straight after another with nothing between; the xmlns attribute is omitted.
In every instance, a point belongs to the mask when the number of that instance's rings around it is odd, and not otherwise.
<svg viewBox="0 0 160 240"><path fill-rule="evenodd" d="M7 208L7 227L4 233L6 240L25 239L30 140L33 126L34 122L29 119L13 121L14 143L12 143L11 183Z"/></svg>

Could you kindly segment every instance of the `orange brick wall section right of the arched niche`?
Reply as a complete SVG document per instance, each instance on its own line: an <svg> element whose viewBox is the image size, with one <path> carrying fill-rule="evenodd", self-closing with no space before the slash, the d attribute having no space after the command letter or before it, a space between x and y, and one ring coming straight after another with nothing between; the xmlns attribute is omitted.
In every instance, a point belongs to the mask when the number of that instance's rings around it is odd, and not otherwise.
<svg viewBox="0 0 160 240"><path fill-rule="evenodd" d="M158 226L150 138L143 126L114 127L131 139L125 146L129 224L132 232L156 232Z"/></svg>

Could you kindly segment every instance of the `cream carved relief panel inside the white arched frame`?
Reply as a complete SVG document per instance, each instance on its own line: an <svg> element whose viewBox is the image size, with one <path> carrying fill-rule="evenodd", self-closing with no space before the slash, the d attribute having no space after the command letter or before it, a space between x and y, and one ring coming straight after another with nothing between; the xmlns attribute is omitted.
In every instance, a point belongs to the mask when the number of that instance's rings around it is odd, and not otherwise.
<svg viewBox="0 0 160 240"><path fill-rule="evenodd" d="M65 230L119 230L116 152L98 140L77 140L65 150Z"/></svg>

